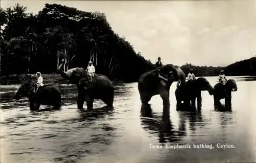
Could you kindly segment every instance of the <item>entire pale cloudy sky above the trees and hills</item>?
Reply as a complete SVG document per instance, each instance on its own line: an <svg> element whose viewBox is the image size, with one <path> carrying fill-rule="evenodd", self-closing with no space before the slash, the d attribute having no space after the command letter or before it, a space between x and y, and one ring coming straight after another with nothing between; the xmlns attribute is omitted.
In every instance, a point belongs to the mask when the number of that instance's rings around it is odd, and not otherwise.
<svg viewBox="0 0 256 163"><path fill-rule="evenodd" d="M103 12L115 33L153 63L161 57L163 64L226 66L256 56L256 0L1 0L1 7L16 3L34 14L46 3Z"/></svg>

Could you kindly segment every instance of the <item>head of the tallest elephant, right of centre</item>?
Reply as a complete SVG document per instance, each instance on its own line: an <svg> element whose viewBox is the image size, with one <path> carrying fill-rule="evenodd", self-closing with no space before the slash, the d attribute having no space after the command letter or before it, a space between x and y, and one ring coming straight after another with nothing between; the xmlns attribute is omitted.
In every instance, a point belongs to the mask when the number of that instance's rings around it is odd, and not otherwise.
<svg viewBox="0 0 256 163"><path fill-rule="evenodd" d="M180 84L185 83L185 73L179 66L173 64L166 64L158 69L159 78L165 80L167 83L172 84L174 81L179 81Z"/></svg>

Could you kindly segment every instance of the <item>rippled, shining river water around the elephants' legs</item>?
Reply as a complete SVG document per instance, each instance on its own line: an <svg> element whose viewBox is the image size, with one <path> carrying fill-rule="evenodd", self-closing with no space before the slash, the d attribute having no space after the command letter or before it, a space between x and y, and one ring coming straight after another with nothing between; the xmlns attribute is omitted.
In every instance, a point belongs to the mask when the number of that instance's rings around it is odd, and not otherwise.
<svg viewBox="0 0 256 163"><path fill-rule="evenodd" d="M202 111L176 111L173 83L169 120L162 120L159 96L141 106L137 83L115 85L114 107L98 100L92 111L77 109L75 86L60 85L62 109L35 112L27 99L12 99L17 85L2 85L1 162L254 162L256 80L228 78L238 85L232 111L215 110L207 91ZM214 86L217 77L206 79ZM143 111L148 107L152 112ZM195 148L200 144L214 148Z"/></svg>

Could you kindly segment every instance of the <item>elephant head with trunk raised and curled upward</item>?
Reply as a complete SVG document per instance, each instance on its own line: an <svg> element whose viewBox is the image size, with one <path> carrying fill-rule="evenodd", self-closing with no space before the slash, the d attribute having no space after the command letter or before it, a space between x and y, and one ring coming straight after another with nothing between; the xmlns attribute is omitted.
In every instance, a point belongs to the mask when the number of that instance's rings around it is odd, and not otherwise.
<svg viewBox="0 0 256 163"><path fill-rule="evenodd" d="M69 80L69 84L88 84L89 83L89 75L82 67L75 67L69 69L67 72L62 71L63 63L58 68L58 73L65 79Z"/></svg>

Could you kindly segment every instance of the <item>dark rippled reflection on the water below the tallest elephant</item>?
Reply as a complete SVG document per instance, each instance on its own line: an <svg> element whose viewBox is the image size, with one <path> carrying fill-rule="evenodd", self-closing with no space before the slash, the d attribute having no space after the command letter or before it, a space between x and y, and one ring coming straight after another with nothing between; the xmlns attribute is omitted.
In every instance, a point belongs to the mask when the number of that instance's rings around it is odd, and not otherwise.
<svg viewBox="0 0 256 163"><path fill-rule="evenodd" d="M163 114L158 115L152 112L150 104L141 105L141 115L140 115L141 125L143 128L151 134L158 134L159 142L179 142L186 136L186 127L180 121L179 129L174 129L172 122L168 115Z"/></svg>

